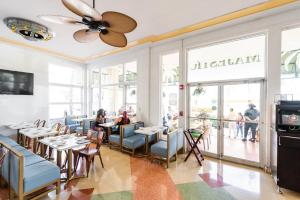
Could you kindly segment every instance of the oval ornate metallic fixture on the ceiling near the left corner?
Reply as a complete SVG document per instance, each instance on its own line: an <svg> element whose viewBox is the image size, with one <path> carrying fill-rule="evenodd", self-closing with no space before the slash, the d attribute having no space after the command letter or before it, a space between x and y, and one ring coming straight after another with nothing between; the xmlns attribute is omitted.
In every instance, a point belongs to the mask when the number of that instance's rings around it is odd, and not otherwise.
<svg viewBox="0 0 300 200"><path fill-rule="evenodd" d="M4 23L12 32L23 36L30 41L48 41L53 38L53 33L44 25L27 19L8 17Z"/></svg>

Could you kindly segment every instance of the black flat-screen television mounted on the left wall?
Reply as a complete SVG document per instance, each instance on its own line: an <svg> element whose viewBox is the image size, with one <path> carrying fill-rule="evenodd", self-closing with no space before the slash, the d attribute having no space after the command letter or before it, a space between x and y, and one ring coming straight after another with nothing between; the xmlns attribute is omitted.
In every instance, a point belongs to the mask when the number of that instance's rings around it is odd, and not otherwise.
<svg viewBox="0 0 300 200"><path fill-rule="evenodd" d="M33 74L0 69L0 94L33 95Z"/></svg>

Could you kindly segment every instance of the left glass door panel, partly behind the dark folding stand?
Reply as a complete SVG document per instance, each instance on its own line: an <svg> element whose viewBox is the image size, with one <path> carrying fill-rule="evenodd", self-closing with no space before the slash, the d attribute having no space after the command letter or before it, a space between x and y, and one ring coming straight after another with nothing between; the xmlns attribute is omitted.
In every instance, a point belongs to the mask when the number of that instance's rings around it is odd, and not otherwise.
<svg viewBox="0 0 300 200"><path fill-rule="evenodd" d="M200 150L218 154L218 105L219 86L191 86L189 88L190 110L189 127L204 132L200 140Z"/></svg>

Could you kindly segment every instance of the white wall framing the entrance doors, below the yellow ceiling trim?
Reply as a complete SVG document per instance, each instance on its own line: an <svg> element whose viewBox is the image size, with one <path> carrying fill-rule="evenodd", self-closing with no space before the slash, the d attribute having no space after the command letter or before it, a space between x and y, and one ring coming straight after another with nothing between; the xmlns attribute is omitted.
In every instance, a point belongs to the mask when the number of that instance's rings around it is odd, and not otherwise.
<svg viewBox="0 0 300 200"><path fill-rule="evenodd" d="M144 47L139 47L138 52L147 52L149 54L136 53L134 49L113 56L104 57L92 62L89 66L105 66L107 63L118 63L118 59L138 58L142 59L142 63L138 64L139 84L138 91L143 91L143 96L138 97L140 106L139 115L143 116L143 120L149 124L157 124L160 122L160 70L159 70L159 56L167 51L178 49L180 51L180 62L182 66L181 83L186 84L186 50L190 47L204 46L212 43L226 41L229 39L239 38L247 35L265 33L267 35L267 60L266 60L266 95L265 98L265 118L264 135L261 136L262 142L262 163L261 166L269 165L270 163L270 112L275 94L280 93L280 55L281 55L281 30L286 27L300 25L300 9L286 11L269 17L257 18L249 17L249 21L241 19L237 20L239 24L233 25L233 22L222 24L208 29L200 30L196 34L188 34L180 36L180 38L171 39L170 41L163 41L160 43L148 44ZM247 19L247 18L246 18ZM251 19L251 20L250 20ZM254 19L254 20L253 20ZM141 57L141 58L140 58ZM147 61L149 59L149 61ZM150 63L150 66L148 64ZM146 72L149 72L148 77ZM142 77L142 78L141 78ZM149 81L149 83L146 83ZM149 85L150 87L143 87ZM181 92L180 110L187 113L186 95ZM144 96L147 95L147 96ZM149 108L147 110L147 108ZM147 118L148 116L148 118ZM147 119L147 120L146 120ZM182 124L182 123L181 123ZM182 124L184 127L184 124Z"/></svg>

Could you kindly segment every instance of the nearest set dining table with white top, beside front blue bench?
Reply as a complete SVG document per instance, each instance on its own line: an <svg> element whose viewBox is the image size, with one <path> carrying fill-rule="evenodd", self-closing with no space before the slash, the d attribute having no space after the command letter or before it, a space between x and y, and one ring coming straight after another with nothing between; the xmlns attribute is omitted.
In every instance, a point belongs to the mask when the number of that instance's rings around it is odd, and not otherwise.
<svg viewBox="0 0 300 200"><path fill-rule="evenodd" d="M72 163L73 163L73 154L72 149L79 148L82 146L86 146L90 144L90 140L86 138L86 136L78 136L77 134L65 134L65 135L59 135L59 136L53 136L53 137L46 137L41 140L39 140L42 144L51 147L52 149L55 149L57 152L57 165L60 167L61 172L64 172L64 169L62 169L62 163L61 163L61 155L63 151L67 152L67 183L75 178L81 178L82 176L72 177L73 169L72 169ZM74 173L75 174L75 173ZM66 184L67 185L67 184Z"/></svg>

